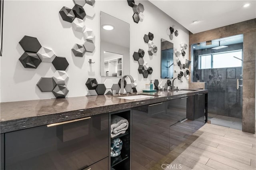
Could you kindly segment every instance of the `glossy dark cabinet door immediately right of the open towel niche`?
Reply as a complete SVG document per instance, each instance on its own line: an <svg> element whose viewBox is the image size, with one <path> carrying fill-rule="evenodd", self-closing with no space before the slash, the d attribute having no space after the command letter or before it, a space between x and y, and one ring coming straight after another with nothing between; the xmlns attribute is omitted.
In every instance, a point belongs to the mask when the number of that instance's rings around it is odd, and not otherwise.
<svg viewBox="0 0 256 170"><path fill-rule="evenodd" d="M153 168L170 152L169 127L166 112L150 115L145 107L132 109L132 170Z"/></svg>

